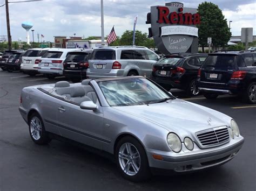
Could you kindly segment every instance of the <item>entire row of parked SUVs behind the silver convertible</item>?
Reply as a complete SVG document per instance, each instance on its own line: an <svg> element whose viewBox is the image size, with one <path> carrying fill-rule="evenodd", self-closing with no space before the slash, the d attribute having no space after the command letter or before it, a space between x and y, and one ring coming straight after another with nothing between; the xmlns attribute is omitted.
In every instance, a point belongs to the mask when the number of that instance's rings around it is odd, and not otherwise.
<svg viewBox="0 0 256 191"><path fill-rule="evenodd" d="M199 91L207 99L235 94L248 103L256 103L255 50L160 57L141 46L99 47L93 51L33 48L26 52L13 51L11 55L5 51L0 66L9 72L21 69L29 75L42 73L49 79L64 75L72 82L142 75L166 90L183 89L189 96L196 96Z"/></svg>

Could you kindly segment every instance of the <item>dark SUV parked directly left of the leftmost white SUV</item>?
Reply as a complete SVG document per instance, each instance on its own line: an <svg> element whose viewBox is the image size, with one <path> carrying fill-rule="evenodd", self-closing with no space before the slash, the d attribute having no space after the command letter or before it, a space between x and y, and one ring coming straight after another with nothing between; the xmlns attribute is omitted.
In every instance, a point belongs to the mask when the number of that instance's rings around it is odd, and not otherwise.
<svg viewBox="0 0 256 191"><path fill-rule="evenodd" d="M22 56L24 54L25 52L15 52L9 57L9 59L5 62L5 68L8 70L8 72L21 69Z"/></svg>

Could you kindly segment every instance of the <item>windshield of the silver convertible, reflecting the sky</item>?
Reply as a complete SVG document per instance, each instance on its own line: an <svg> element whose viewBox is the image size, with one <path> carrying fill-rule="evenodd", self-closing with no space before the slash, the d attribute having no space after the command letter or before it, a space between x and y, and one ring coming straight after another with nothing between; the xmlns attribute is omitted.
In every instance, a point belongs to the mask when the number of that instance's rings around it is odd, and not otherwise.
<svg viewBox="0 0 256 191"><path fill-rule="evenodd" d="M99 81L98 85L112 107L160 103L174 98L144 78Z"/></svg>

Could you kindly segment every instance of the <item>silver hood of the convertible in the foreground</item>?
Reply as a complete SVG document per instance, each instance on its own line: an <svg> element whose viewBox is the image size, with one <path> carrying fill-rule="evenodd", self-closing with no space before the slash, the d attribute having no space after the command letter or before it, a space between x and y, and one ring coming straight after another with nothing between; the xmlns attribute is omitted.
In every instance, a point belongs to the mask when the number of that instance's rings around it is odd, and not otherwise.
<svg viewBox="0 0 256 191"><path fill-rule="evenodd" d="M150 121L170 132L183 131L194 134L205 129L227 126L231 120L218 111L177 98L164 103L113 108Z"/></svg>

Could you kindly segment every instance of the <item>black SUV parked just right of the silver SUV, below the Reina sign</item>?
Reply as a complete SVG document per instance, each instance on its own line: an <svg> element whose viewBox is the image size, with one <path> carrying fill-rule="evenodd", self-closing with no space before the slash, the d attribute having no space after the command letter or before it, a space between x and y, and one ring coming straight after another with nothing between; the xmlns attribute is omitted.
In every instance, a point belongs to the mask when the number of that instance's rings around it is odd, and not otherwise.
<svg viewBox="0 0 256 191"><path fill-rule="evenodd" d="M208 54L173 54L161 58L153 66L151 79L166 90L183 89L188 96L196 96L198 69Z"/></svg>

